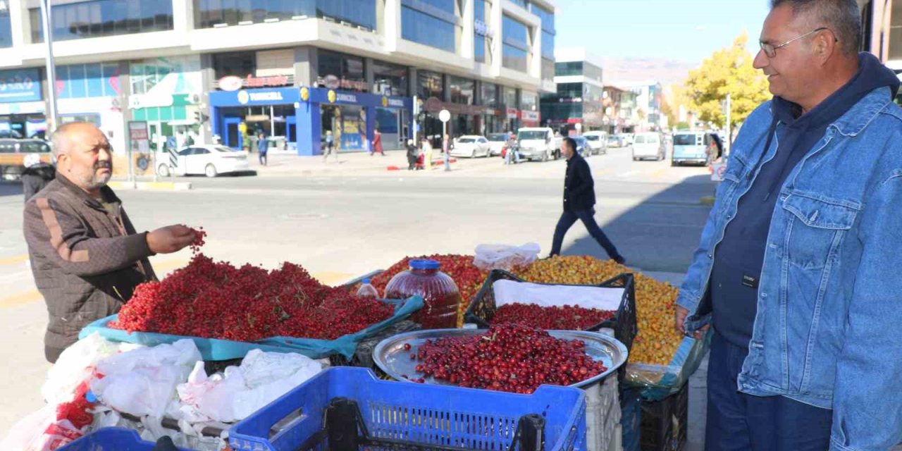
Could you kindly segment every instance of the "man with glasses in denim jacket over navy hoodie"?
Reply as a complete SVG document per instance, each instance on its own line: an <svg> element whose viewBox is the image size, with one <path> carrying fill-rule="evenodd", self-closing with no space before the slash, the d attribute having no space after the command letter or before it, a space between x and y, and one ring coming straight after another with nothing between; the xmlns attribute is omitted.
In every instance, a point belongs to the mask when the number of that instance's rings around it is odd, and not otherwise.
<svg viewBox="0 0 902 451"><path fill-rule="evenodd" d="M714 334L708 450L902 441L902 109L854 0L772 0L676 327Z"/></svg>

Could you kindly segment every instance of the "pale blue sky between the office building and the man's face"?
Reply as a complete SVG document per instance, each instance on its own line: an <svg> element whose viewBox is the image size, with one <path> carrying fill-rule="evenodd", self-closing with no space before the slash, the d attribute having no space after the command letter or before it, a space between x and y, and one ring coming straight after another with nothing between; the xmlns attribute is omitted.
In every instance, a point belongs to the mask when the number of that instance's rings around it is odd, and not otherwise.
<svg viewBox="0 0 902 451"><path fill-rule="evenodd" d="M757 51L768 0L554 0L556 47L701 63L743 29Z"/></svg>

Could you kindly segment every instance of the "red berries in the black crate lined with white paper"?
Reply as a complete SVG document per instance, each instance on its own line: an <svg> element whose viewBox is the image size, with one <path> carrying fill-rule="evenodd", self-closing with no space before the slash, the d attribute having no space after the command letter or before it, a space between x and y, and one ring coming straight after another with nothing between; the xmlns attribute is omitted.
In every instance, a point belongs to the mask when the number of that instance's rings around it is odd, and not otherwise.
<svg viewBox="0 0 902 451"><path fill-rule="evenodd" d="M578 306L540 307L506 304L495 310L492 324L523 323L547 330L586 330L614 317L614 312Z"/></svg>

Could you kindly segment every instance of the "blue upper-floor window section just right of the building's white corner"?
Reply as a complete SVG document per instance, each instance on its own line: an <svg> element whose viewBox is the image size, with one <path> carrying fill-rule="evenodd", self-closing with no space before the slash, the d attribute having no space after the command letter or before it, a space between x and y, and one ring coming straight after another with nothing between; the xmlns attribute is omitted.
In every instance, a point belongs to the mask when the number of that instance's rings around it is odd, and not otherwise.
<svg viewBox="0 0 902 451"><path fill-rule="evenodd" d="M400 8L400 37L443 51L456 51L456 0L403 0Z"/></svg>

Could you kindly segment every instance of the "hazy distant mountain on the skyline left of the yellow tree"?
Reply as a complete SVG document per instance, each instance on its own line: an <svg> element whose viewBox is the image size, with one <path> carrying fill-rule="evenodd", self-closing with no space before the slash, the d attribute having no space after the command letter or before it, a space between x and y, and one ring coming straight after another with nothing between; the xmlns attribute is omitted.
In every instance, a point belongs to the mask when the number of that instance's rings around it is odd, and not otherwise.
<svg viewBox="0 0 902 451"><path fill-rule="evenodd" d="M662 86L682 84L689 70L701 65L665 58L603 58L603 64L603 83L613 86L644 80L657 80Z"/></svg>

